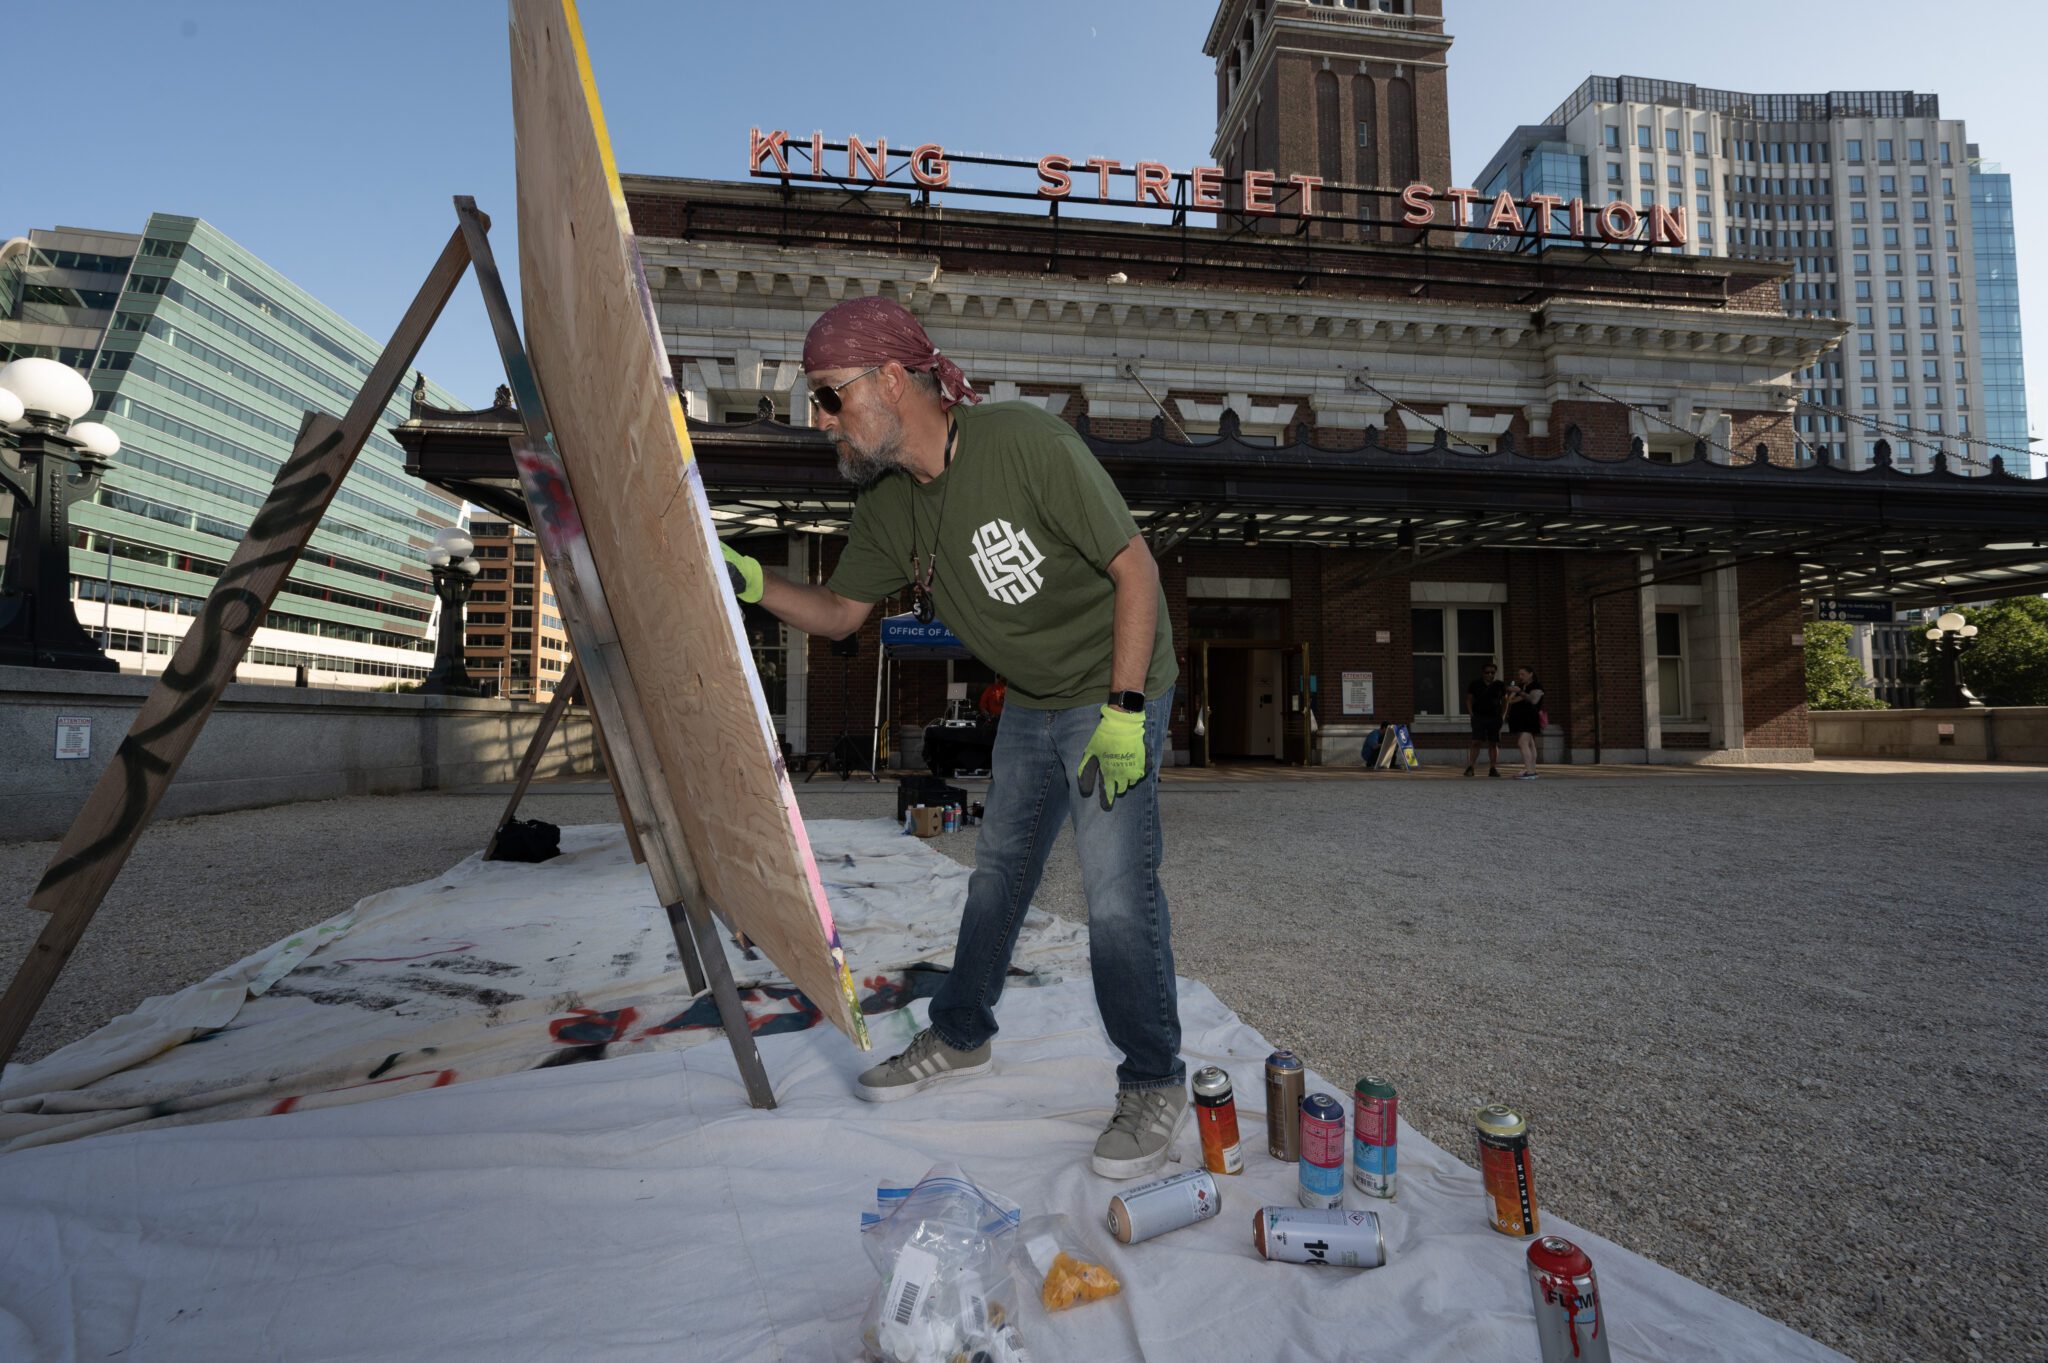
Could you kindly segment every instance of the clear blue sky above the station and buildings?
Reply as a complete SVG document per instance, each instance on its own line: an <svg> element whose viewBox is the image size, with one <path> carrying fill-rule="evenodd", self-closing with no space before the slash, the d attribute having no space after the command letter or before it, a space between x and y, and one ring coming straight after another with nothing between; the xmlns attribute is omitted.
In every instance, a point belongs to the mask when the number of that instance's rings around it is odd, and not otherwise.
<svg viewBox="0 0 2048 1363"><path fill-rule="evenodd" d="M2048 8L1970 0L1448 0L1460 182L1589 74L1737 90L1915 88L2013 174L2028 411L2048 432ZM498 0L70 0L6 6L14 156L0 233L190 213L383 338L475 194L512 244ZM711 4L584 0L627 172L739 178L750 125L1036 158L1206 160L1208 0ZM27 113L25 113L27 111ZM483 403L498 358L473 287L424 368Z"/></svg>

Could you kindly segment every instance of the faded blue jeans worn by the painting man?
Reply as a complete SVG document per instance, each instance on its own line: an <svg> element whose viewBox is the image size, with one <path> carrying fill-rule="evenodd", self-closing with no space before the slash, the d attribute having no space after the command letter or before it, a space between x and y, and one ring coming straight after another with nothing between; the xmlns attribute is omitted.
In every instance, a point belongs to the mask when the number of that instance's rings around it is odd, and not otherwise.
<svg viewBox="0 0 2048 1363"><path fill-rule="evenodd" d="M1145 704L1145 780L1104 810L1100 792L1081 798L1081 749L1102 722L1102 706L1028 710L1006 706L995 729L989 796L952 974L932 997L932 1029L956 1050L995 1036L995 1001L1016 950L1024 911L1038 890L1044 858L1063 821L1073 823L1087 892L1087 960L1096 1007L1110 1042L1124 1052L1118 1089L1186 1083L1174 941L1159 888L1165 839L1159 831L1159 753L1174 690Z"/></svg>

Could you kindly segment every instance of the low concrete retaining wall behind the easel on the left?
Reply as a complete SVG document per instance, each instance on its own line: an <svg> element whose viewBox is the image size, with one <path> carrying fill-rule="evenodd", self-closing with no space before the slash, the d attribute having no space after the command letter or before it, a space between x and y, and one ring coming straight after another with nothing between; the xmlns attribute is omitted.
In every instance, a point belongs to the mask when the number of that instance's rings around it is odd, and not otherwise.
<svg viewBox="0 0 2048 1363"><path fill-rule="evenodd" d="M0 839L59 837L70 827L152 686L154 677L0 667ZM512 700L229 686L156 817L506 782L541 710ZM90 722L88 757L55 755L59 716ZM571 708L541 776L600 765L590 714Z"/></svg>

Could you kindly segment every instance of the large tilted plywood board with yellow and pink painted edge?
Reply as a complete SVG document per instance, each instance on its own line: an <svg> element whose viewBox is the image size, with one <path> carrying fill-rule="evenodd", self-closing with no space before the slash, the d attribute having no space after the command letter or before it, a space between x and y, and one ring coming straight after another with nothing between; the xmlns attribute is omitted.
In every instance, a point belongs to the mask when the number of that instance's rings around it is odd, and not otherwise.
<svg viewBox="0 0 2048 1363"><path fill-rule="evenodd" d="M637 755L717 911L864 1048L571 0L512 0L512 121L526 350L639 696Z"/></svg>

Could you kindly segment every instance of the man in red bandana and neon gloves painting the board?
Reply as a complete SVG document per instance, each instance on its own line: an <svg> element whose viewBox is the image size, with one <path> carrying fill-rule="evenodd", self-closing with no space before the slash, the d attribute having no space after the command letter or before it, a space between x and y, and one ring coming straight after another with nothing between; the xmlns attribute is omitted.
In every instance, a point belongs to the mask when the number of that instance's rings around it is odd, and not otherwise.
<svg viewBox="0 0 2048 1363"><path fill-rule="evenodd" d="M860 489L825 585L764 577L727 548L741 600L844 639L911 589L1008 682L952 972L932 1025L858 1081L877 1103L991 1068L995 1001L1047 853L1073 827L1116 1111L1092 1167L1157 1171L1188 1113L1171 923L1159 888L1159 755L1178 663L1159 569L1108 473L1059 417L977 405L903 307L870 297L811 327L817 426Z"/></svg>

